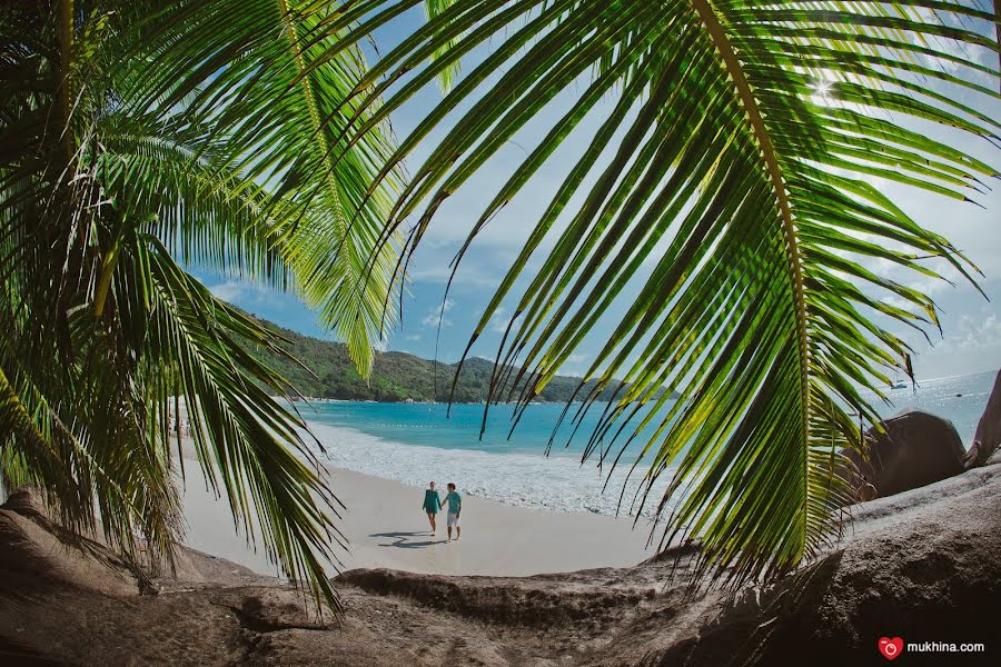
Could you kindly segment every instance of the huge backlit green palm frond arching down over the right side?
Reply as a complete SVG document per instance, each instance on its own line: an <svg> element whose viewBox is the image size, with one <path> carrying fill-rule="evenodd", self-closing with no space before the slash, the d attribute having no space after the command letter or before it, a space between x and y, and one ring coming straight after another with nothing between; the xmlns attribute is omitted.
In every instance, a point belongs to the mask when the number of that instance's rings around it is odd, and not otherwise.
<svg viewBox="0 0 1001 667"><path fill-rule="evenodd" d="M358 21L360 39L418 6L349 2L329 29ZM933 300L873 260L914 278L975 273L874 182L960 206L998 176L998 13L950 0L428 9L353 98L373 110L348 132L360 138L446 84L383 171L425 151L386 233L405 230L412 252L446 199L517 137L525 157L470 217L457 267L554 156L574 156L474 329L470 346L502 307L512 313L490 398L509 398L499 388L521 368L524 408L625 300L584 375L597 384L565 412L602 410L584 458L614 467L640 440L632 509L652 505L663 539L697 539L703 573L725 567L740 581L816 554L851 499L840 450L878 420L864 390L885 399L889 378L910 374L893 328L938 326ZM551 104L562 93L571 102ZM518 131L541 118L553 118L548 131L526 145ZM982 139L993 163L936 128ZM561 153L569 138L583 149ZM607 387L616 400L596 406Z"/></svg>

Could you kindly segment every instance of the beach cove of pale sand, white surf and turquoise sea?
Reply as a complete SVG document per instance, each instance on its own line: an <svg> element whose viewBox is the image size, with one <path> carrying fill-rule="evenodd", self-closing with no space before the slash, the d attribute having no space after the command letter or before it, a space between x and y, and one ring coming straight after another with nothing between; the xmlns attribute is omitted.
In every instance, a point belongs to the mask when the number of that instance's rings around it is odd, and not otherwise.
<svg viewBox="0 0 1001 667"><path fill-rule="evenodd" d="M926 380L891 394L885 415L920 407L951 419L969 444L995 374ZM605 477L582 466L579 446L544 456L562 406L531 406L524 424L507 438L507 410L493 408L490 426L478 437L483 406L338 402L300 405L313 434L305 436L345 505L336 526L349 542L338 550L351 568L392 568L428 575L529 576L595 567L628 567L654 555L647 515L634 522L630 494L615 516L626 461L602 491ZM561 432L565 432L564 428ZM184 485L186 544L238 563L261 575L276 575L262 550L255 550L234 527L225 499L206 489L186 438ZM316 446L319 442L323 450ZM378 471L379 475L370 472ZM631 491L635 492L636 474ZM463 539L445 544L444 515L438 534L428 534L420 501L427 481L439 489L456 481L464 496ZM662 482L660 484L663 484ZM444 496L444 492L443 492ZM655 496L656 498L656 496ZM502 501L503 499L503 501ZM655 534L655 542L661 532Z"/></svg>

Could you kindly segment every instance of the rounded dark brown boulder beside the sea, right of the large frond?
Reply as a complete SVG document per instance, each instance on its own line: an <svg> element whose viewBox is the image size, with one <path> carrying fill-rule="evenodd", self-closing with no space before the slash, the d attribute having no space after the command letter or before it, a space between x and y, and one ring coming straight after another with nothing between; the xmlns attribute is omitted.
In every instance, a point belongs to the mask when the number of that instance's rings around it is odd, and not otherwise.
<svg viewBox="0 0 1001 667"><path fill-rule="evenodd" d="M967 450L955 427L923 410L891 417L864 434L865 456L845 450L854 464L853 486L892 496L959 475Z"/></svg>

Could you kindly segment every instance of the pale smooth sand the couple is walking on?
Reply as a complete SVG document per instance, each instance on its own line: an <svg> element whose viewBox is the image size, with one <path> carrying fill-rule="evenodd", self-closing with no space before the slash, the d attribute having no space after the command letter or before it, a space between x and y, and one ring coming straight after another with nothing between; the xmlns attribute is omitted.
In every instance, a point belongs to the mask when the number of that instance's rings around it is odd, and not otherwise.
<svg viewBox="0 0 1001 667"><path fill-rule="evenodd" d="M631 566L653 554L646 548L650 525L645 521L634 529L631 518L541 511L467 494L463 494L462 540L446 544L444 512L438 515L438 534L429 534L420 508L424 489L350 470L329 471L337 497L347 506L338 527L350 542L350 552L338 551L341 569L524 576ZM206 490L198 464L186 460L186 474L188 546L276 575L264 549L255 552L237 534L228 502ZM462 492L462 480L456 481Z"/></svg>

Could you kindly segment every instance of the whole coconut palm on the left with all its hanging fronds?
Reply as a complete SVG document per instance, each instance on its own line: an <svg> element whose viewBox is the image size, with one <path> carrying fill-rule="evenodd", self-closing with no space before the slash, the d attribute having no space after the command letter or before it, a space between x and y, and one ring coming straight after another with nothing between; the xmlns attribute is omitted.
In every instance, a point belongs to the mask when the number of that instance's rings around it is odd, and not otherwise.
<svg viewBox="0 0 1001 667"><path fill-rule="evenodd" d="M327 58L337 33L317 27L336 9L0 10L4 482L39 487L66 526L98 530L132 563L169 560L184 410L235 521L335 604L324 568L343 542L336 498L303 420L275 398L290 389L248 351L281 341L191 270L300 296L370 368L397 287L398 249L376 249L396 181L373 187L390 155L385 123L340 138L374 108L345 103L360 49Z"/></svg>

